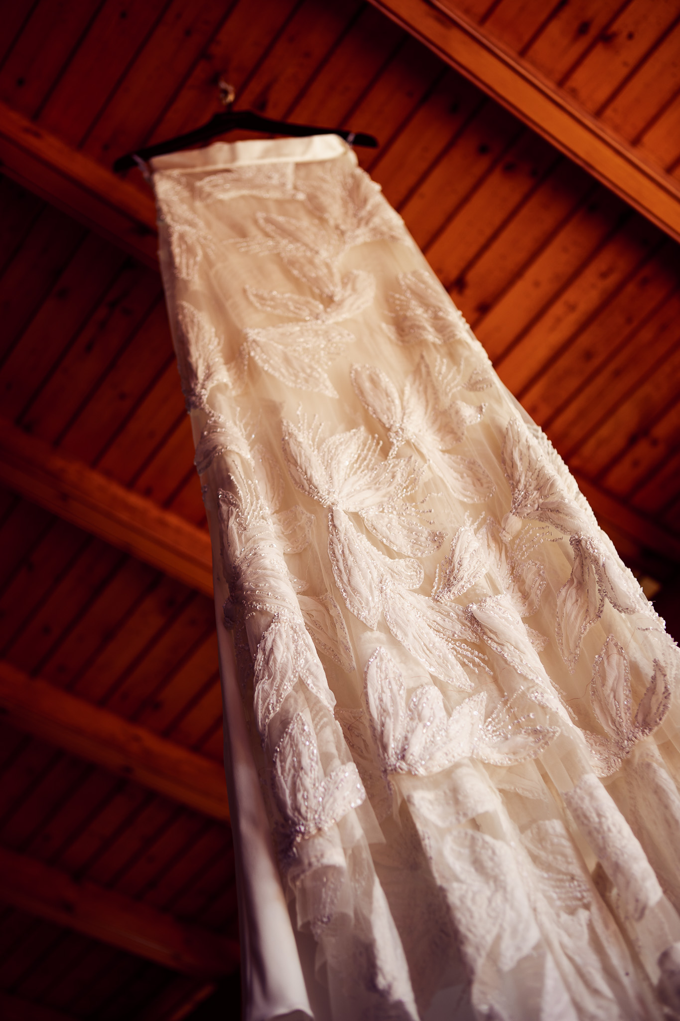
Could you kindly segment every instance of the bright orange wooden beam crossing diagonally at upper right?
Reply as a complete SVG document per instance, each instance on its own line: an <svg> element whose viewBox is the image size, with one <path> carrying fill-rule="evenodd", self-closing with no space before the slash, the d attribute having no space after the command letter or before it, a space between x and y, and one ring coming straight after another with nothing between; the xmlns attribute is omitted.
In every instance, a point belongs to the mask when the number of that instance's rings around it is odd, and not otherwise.
<svg viewBox="0 0 680 1021"><path fill-rule="evenodd" d="M371 0L556 148L680 241L680 182L455 9L455 0Z"/></svg>

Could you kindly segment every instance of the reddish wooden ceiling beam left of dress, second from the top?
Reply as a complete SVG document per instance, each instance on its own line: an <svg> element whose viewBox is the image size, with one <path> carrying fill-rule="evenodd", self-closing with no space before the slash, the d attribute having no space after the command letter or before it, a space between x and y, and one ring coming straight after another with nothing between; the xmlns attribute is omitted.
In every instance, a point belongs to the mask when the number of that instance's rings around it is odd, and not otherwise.
<svg viewBox="0 0 680 1021"><path fill-rule="evenodd" d="M212 595L207 532L0 419L0 482L118 549Z"/></svg>

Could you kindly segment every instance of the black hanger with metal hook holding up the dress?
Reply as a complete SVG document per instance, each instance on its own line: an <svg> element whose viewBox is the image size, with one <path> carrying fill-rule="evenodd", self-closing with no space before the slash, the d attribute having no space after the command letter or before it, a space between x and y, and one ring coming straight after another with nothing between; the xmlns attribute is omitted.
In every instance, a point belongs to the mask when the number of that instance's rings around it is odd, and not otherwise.
<svg viewBox="0 0 680 1021"><path fill-rule="evenodd" d="M230 106L233 102L234 91L232 86L220 80L219 83L221 101L225 106ZM231 110L227 109L223 113L215 113L207 124L195 131L190 131L186 135L177 135L166 142L157 142L156 145L148 145L144 149L137 149L128 152L125 156L120 156L113 164L113 169L120 174L128 171L138 163L138 160L151 159L152 156L161 156L165 152L178 152L179 149L188 149L199 142L209 142L217 135L223 135L227 131L260 131L267 135L287 135L296 138L303 138L308 135L339 135L350 145L363 145L369 149L377 148L377 139L372 135L364 135L361 132L341 131L335 128L314 128L311 125L292 125L285 120L271 120L269 117L255 113L253 110Z"/></svg>

